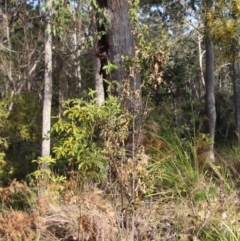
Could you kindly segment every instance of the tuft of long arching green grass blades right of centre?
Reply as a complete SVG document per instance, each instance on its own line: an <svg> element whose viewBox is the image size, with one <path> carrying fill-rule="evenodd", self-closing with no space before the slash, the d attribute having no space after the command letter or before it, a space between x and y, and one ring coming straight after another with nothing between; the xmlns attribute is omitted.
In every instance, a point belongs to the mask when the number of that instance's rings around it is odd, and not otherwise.
<svg viewBox="0 0 240 241"><path fill-rule="evenodd" d="M155 150L153 162L148 167L155 192L164 188L186 194L204 175L200 172L192 141L174 136L163 142L169 151Z"/></svg>

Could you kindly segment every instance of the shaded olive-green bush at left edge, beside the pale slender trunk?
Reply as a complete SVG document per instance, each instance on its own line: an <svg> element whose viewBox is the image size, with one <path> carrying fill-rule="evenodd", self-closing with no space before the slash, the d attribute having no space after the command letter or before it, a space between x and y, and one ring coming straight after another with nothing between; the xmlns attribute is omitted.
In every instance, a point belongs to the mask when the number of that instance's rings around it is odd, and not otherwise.
<svg viewBox="0 0 240 241"><path fill-rule="evenodd" d="M42 118L40 108L36 108L38 97L33 93L21 93L11 101L11 112L7 109L8 98L1 100L0 108L0 179L4 184L13 176L21 180L35 169L31 161L39 156L41 141Z"/></svg>

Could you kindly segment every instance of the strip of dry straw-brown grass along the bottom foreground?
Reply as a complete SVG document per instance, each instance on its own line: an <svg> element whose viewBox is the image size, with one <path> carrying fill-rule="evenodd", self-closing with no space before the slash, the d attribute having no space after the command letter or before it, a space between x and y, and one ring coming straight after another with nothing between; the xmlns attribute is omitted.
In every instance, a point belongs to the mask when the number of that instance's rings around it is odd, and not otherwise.
<svg viewBox="0 0 240 241"><path fill-rule="evenodd" d="M169 195L166 190L124 209L113 207L110 197L96 188L79 195L71 192L69 202L44 202L44 217L37 210L4 211L0 214L0 240L202 241L202 230L211 231L211 223L218 223L223 230L231 223L240 230L237 192L216 187L214 195L194 200L202 190L210 193L211 185L203 180L186 197Z"/></svg>

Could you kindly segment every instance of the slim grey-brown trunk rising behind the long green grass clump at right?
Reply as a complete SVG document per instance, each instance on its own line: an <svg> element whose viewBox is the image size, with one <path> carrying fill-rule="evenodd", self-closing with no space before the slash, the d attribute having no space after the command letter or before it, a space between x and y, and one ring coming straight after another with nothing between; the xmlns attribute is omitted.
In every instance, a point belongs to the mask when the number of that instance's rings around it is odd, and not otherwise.
<svg viewBox="0 0 240 241"><path fill-rule="evenodd" d="M211 7L207 0L207 9ZM215 78L214 78L214 49L213 41L208 24L205 26L205 47L206 47L206 113L208 118L209 137L213 144L210 145L209 158L214 160L214 139L216 128L216 106L215 106Z"/></svg>

